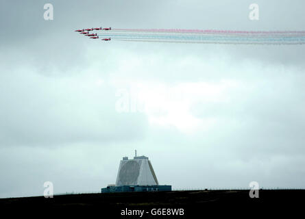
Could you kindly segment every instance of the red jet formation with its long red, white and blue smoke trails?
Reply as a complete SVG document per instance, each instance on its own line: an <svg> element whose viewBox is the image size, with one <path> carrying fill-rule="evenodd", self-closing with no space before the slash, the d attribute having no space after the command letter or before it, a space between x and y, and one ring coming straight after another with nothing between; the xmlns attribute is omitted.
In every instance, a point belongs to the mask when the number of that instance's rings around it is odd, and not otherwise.
<svg viewBox="0 0 305 219"><path fill-rule="evenodd" d="M305 31L234 31L200 29L86 29L99 40L125 42L177 42L205 44L305 44ZM78 30L81 31L81 30ZM90 34L88 34L88 31ZM95 31L95 33L93 32Z"/></svg>

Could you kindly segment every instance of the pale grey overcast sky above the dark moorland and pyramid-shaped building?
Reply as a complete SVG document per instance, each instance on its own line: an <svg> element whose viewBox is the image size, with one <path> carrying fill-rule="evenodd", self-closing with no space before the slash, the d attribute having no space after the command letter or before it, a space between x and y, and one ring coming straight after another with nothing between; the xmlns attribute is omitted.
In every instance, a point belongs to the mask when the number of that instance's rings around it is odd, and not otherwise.
<svg viewBox="0 0 305 219"><path fill-rule="evenodd" d="M259 21L248 18L251 3ZM73 31L304 31L304 8L1 0L0 198L43 195L45 181L55 193L98 192L134 149L173 188L304 188L305 46L101 42ZM145 110L120 113L119 94Z"/></svg>

